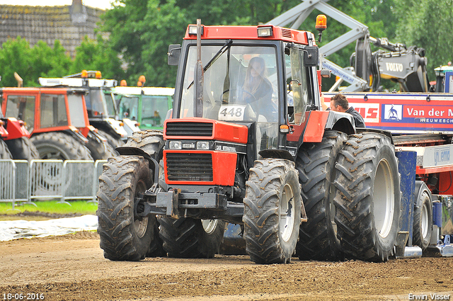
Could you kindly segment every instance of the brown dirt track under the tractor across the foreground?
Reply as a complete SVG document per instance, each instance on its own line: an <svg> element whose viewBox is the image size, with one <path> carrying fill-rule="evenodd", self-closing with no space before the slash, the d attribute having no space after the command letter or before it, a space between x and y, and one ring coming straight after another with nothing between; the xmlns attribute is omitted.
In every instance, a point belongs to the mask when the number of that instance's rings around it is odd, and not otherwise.
<svg viewBox="0 0 453 301"><path fill-rule="evenodd" d="M98 234L0 242L1 300L410 300L453 296L453 259L387 263L293 259L261 266L248 256L108 261ZM4 298L6 294L6 299ZM30 294L30 295L28 295ZM415 300L415 299L413 299ZM453 297L449 297L453 300Z"/></svg>

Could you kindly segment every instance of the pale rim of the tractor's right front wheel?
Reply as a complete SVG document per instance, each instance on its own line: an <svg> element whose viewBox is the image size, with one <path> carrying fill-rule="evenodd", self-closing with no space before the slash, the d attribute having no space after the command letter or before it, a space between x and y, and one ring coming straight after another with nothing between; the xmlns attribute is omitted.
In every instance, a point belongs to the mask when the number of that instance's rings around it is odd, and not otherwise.
<svg viewBox="0 0 453 301"><path fill-rule="evenodd" d="M289 184L285 184L280 199L280 237L287 242L292 235L294 227L294 193Z"/></svg>

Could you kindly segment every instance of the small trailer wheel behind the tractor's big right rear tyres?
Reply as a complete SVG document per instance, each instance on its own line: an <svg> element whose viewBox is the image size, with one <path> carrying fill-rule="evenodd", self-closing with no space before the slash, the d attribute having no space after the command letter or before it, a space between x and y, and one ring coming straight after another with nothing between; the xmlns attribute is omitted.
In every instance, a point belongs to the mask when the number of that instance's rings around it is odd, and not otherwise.
<svg viewBox="0 0 453 301"><path fill-rule="evenodd" d="M420 181L421 182L421 181ZM413 210L413 244L424 251L430 244L432 234L431 191L424 182L418 183L418 195ZM415 190L417 191L417 190Z"/></svg>

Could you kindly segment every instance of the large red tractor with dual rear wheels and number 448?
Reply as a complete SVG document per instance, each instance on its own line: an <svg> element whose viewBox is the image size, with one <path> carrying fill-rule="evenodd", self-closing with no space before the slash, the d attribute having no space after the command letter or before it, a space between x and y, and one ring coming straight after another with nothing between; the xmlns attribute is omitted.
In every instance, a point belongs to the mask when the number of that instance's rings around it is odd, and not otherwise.
<svg viewBox="0 0 453 301"><path fill-rule="evenodd" d="M225 222L243 227L256 263L294 251L386 261L405 243L391 135L320 110L312 33L198 23L168 64L178 74L163 135L132 136L99 178L106 258L210 258Z"/></svg>

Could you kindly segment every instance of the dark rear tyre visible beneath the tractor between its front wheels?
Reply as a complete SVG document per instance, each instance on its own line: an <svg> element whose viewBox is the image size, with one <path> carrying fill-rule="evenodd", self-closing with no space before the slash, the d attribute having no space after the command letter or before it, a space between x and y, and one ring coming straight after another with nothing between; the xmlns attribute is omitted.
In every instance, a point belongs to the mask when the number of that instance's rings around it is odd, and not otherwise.
<svg viewBox="0 0 453 301"><path fill-rule="evenodd" d="M160 217L159 223L168 257L210 259L219 253L225 231L222 220Z"/></svg>

